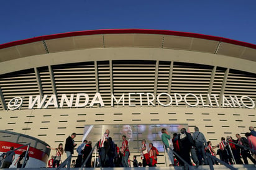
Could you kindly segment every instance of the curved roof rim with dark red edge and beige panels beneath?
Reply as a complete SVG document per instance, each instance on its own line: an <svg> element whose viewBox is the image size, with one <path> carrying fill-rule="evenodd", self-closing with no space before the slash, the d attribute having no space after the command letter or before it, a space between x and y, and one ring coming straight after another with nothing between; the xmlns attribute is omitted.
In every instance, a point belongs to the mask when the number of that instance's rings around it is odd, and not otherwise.
<svg viewBox="0 0 256 170"><path fill-rule="evenodd" d="M0 45L0 61L85 48L150 47L201 51L256 61L256 45L223 37L169 30L86 30L44 35Z"/></svg>

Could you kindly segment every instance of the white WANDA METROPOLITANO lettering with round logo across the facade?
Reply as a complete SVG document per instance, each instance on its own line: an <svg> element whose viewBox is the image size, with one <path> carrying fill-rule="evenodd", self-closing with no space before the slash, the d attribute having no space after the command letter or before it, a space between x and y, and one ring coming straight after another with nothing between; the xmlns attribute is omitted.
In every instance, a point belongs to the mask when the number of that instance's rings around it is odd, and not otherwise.
<svg viewBox="0 0 256 170"><path fill-rule="evenodd" d="M68 97L69 96L69 97ZM29 97L29 105L27 109L47 109L49 106L55 108L67 107L93 107L94 105L100 105L104 107L104 100L101 97L99 92L94 94L94 97L89 101L89 96L86 93L77 93L77 94L62 94L60 102L58 102L57 96L52 94L51 96L27 96ZM167 97L168 102L160 101L160 97ZM25 97L14 97L9 101L7 107L9 110L21 109L23 100ZM207 103L204 99L207 99ZM221 104L219 104L219 99ZM191 101L193 100L193 101ZM139 101L139 104L133 104L133 102ZM162 107L169 107L170 105L179 106L180 102L185 102L186 105L190 107L230 107L230 108L247 108L254 109L255 102L249 96L219 96L217 94L193 94L188 93L181 95L179 93L173 94L171 96L168 93L162 92L155 96L153 93L147 92L129 92L123 93L121 97L116 97L114 94L111 94L111 107L114 107L114 104L124 107L134 107L134 106L156 106L161 105ZM24 109L24 108L22 108Z"/></svg>

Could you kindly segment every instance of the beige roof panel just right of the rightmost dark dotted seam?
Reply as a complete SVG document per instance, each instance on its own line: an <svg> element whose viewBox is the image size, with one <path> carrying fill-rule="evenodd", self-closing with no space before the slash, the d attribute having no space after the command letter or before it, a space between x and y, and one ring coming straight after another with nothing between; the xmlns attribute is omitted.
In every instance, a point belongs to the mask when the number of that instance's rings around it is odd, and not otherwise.
<svg viewBox="0 0 256 170"><path fill-rule="evenodd" d="M244 51L244 48L245 47L233 45L230 43L221 43L221 47L219 47L217 54L240 57Z"/></svg>

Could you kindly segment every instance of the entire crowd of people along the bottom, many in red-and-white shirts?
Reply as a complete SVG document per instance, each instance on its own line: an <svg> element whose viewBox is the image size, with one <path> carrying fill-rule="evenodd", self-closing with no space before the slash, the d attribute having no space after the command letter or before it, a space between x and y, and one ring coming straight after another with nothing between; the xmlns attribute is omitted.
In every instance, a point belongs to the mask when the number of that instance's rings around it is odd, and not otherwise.
<svg viewBox="0 0 256 170"><path fill-rule="evenodd" d="M256 132L254 127L249 127L250 132L245 133L245 137L236 134L237 138L234 140L231 136L227 138L221 137L221 141L217 145L212 145L211 141L207 141L202 132L199 132L198 127L194 127L194 133L187 132L185 128L181 128L180 133L174 133L173 138L168 134L167 129L162 128L162 143L165 148L168 158L170 160L169 166L184 166L189 165L204 165L218 164L213 156L219 154L219 158L227 164L249 164L248 159L256 164ZM61 158L64 152L69 157L74 154L76 143L74 138L76 133L66 138L65 147L60 143L57 148L47 146L56 151L55 156L52 156L48 161L48 168L57 168L60 166ZM78 156L76 160L71 163L68 161L67 167L80 168L83 164L86 168L93 167L131 167L131 162L134 167L156 166L158 149L153 146L153 143L147 145L146 140L141 140L140 158L142 163L138 163L136 156L130 160L129 141L126 135L122 135L122 145L117 146L109 135L109 130L106 130L101 139L97 143L98 158L92 162L92 143L91 141L84 140L77 148ZM217 148L217 151L214 149ZM208 156L209 153L211 156ZM11 147L10 151L0 155L0 167L9 168L14 161L15 153L14 148ZM209 158L208 158L209 157ZM241 159L242 158L242 159ZM29 156L25 158L25 152L16 159L15 165L21 168L22 164L27 163Z"/></svg>

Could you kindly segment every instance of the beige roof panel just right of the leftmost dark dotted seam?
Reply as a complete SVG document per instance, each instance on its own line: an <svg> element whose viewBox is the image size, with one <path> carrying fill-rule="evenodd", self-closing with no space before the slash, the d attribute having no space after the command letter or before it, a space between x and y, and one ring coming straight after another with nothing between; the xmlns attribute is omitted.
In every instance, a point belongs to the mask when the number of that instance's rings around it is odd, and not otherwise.
<svg viewBox="0 0 256 170"><path fill-rule="evenodd" d="M49 53L75 50L73 37L45 40Z"/></svg>

